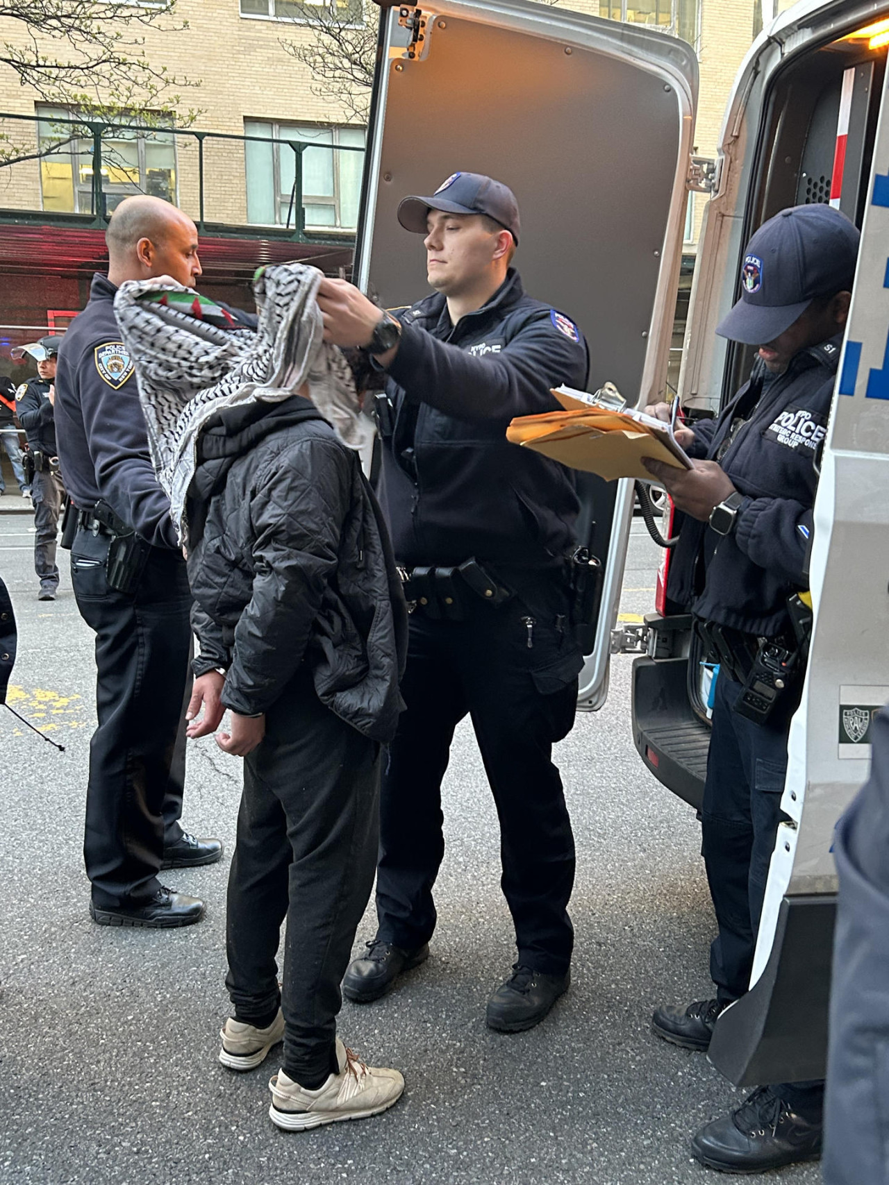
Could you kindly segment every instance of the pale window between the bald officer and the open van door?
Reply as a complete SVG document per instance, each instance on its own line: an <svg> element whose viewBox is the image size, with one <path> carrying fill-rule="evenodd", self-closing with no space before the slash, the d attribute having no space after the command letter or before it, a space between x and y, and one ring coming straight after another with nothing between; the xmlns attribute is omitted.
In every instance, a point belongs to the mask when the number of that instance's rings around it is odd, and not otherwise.
<svg viewBox="0 0 889 1185"><path fill-rule="evenodd" d="M296 153L288 142L293 141L312 146L303 149L301 156L306 226L313 230L356 229L364 153L351 149L364 148L364 128L313 128L244 120L244 134L269 141L248 140L245 143L249 223L296 225L293 209Z"/></svg>

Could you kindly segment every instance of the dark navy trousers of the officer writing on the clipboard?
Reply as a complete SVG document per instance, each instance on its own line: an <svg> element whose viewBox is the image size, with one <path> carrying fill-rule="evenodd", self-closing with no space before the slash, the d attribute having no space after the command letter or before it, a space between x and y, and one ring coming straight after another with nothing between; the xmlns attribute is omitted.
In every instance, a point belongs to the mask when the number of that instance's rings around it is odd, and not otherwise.
<svg viewBox="0 0 889 1185"><path fill-rule="evenodd" d="M750 986L768 867L781 821L789 725L754 724L733 711L741 684L716 681L704 784L703 852L718 934L710 948L717 998L737 1000ZM820 1114L824 1084L774 1089L807 1117Z"/></svg>

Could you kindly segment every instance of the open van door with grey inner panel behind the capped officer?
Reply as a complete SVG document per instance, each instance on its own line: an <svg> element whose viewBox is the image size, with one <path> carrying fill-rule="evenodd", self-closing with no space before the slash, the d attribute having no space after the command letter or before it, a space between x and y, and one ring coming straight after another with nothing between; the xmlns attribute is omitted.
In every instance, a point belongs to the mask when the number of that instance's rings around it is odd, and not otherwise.
<svg viewBox="0 0 889 1185"><path fill-rule="evenodd" d="M589 390L663 396L697 100L689 45L525 0L440 0L380 18L354 280L389 307L428 293L396 209L456 171L506 182L525 289L576 321ZM582 542L605 569L583 707L607 694L633 510L629 481L582 478ZM586 536L586 538L583 538Z"/></svg>

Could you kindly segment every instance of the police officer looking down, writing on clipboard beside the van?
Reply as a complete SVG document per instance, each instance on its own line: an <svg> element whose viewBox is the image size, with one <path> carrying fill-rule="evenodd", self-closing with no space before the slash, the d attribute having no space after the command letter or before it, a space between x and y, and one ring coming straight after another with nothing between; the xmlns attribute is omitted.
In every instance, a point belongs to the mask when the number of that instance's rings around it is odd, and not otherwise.
<svg viewBox="0 0 889 1185"><path fill-rule="evenodd" d="M682 430L680 443L698 459L693 469L648 462L687 515L667 596L691 609L706 656L719 664L702 807L718 924L710 953L716 997L660 1007L652 1021L659 1037L685 1049L706 1050L719 1013L750 984L789 720L802 685L794 595L808 583L816 465L857 252L856 228L825 205L784 210L756 231L743 257L741 299L717 331L760 346L753 374L715 421ZM665 404L648 410L669 416ZM769 707L753 683L774 659L792 673ZM817 1159L823 1096L820 1082L759 1087L703 1127L692 1153L725 1172Z"/></svg>

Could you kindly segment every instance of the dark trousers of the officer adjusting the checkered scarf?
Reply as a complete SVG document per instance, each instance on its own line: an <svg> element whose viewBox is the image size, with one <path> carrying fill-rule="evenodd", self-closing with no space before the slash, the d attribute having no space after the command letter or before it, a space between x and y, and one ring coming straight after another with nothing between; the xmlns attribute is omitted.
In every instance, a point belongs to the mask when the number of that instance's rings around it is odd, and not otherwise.
<svg viewBox="0 0 889 1185"><path fill-rule="evenodd" d="M574 837L552 744L574 724L580 651L556 628L561 584L462 622L410 619L401 716L383 777L377 871L379 937L411 948L435 929L433 885L444 854L441 783L459 720L472 718L500 821L501 886L518 960L563 974L574 929ZM529 633L527 621L533 624ZM529 646L529 641L531 646Z"/></svg>

